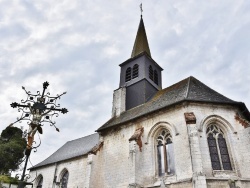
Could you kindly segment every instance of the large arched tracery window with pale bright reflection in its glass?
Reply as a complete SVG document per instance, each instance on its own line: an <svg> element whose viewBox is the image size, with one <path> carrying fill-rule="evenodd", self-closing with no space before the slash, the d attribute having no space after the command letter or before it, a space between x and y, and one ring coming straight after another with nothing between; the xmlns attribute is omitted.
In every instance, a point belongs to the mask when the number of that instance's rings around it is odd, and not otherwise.
<svg viewBox="0 0 250 188"><path fill-rule="evenodd" d="M157 136L156 143L159 176L174 174L174 148L170 132L167 129L162 130Z"/></svg>

